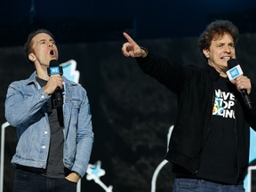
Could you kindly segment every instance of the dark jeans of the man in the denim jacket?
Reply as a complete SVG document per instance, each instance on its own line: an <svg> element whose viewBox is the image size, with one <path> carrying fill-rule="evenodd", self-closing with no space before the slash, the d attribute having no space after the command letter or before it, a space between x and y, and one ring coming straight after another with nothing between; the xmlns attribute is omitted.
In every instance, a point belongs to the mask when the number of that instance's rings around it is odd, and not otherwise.
<svg viewBox="0 0 256 192"><path fill-rule="evenodd" d="M76 192L76 183L16 169L13 192Z"/></svg>

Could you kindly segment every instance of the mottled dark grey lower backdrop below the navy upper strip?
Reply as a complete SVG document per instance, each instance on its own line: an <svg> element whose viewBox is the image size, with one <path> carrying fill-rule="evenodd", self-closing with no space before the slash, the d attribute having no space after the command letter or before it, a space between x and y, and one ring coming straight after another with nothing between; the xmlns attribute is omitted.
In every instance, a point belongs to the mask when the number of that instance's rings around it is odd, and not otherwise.
<svg viewBox="0 0 256 192"><path fill-rule="evenodd" d="M121 36L121 34L120 34ZM204 66L197 49L197 37L138 40L176 65ZM167 133L173 124L176 98L163 85L142 73L132 58L121 53L122 41L59 44L60 62L74 59L80 71L80 84L87 90L92 108L95 141L91 164L101 161L106 175L100 179L113 191L150 191L156 166L164 159ZM255 34L244 34L237 44L237 60L248 76L255 79ZM21 46L0 48L1 123L4 124L4 99L8 84L27 78L33 69ZM248 70L249 68L249 70ZM12 188L10 164L16 143L14 128L6 130L4 191ZM171 191L172 164L164 166L156 191ZM104 191L94 181L82 180L82 191Z"/></svg>

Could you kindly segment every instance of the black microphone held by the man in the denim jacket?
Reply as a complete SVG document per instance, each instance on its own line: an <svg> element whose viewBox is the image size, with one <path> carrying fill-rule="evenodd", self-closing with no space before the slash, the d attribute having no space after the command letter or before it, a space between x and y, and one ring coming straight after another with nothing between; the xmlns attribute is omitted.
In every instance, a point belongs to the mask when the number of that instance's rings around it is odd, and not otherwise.
<svg viewBox="0 0 256 192"><path fill-rule="evenodd" d="M48 76L63 74L63 69L59 65L58 60L51 60L49 68L47 68ZM52 93L52 108L61 108L63 105L63 95L62 90L58 86L55 92Z"/></svg>

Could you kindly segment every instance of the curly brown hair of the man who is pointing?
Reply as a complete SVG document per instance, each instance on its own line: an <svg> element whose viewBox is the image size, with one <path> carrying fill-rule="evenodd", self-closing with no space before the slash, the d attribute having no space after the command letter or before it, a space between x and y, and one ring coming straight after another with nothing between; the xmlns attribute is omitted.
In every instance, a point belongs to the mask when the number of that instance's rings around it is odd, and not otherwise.
<svg viewBox="0 0 256 192"><path fill-rule="evenodd" d="M212 39L229 34L233 37L236 44L239 37L239 30L229 20L215 20L210 23L199 38L199 48L201 51L209 49L212 43Z"/></svg>

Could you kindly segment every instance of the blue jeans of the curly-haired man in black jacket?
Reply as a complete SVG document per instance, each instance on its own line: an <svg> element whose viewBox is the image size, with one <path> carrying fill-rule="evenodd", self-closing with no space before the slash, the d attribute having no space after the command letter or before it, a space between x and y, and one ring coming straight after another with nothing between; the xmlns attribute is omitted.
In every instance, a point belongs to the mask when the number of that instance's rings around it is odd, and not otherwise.
<svg viewBox="0 0 256 192"><path fill-rule="evenodd" d="M174 179L172 192L244 192L244 185L224 185L206 180Z"/></svg>

